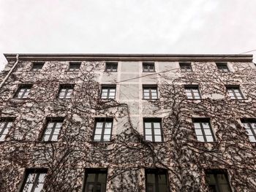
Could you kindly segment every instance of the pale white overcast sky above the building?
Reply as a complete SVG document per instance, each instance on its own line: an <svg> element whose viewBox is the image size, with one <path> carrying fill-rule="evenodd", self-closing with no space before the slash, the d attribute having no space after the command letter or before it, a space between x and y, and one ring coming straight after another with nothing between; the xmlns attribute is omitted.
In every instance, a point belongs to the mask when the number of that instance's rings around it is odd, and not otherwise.
<svg viewBox="0 0 256 192"><path fill-rule="evenodd" d="M243 53L256 0L0 0L2 53ZM256 52L252 52L256 53Z"/></svg>

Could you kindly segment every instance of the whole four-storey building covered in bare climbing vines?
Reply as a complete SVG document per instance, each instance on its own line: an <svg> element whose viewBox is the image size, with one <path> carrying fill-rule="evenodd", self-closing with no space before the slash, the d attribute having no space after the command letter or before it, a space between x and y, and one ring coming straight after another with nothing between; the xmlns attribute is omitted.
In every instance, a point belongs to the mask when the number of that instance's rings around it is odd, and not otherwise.
<svg viewBox="0 0 256 192"><path fill-rule="evenodd" d="M256 191L252 55L5 57L0 191Z"/></svg>

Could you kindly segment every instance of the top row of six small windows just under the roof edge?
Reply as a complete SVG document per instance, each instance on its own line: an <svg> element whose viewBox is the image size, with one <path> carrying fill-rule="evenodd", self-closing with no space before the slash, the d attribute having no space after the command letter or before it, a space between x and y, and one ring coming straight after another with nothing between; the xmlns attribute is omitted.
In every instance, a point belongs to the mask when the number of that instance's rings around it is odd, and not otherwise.
<svg viewBox="0 0 256 192"><path fill-rule="evenodd" d="M230 72L227 63L216 63L220 72ZM81 62L69 62L69 71L79 71ZM34 62L32 71L39 71L44 66L44 62ZM189 62L179 63L181 72L192 72L192 66ZM117 72L118 62L106 62L105 72ZM143 62L143 72L156 72L154 62Z"/></svg>

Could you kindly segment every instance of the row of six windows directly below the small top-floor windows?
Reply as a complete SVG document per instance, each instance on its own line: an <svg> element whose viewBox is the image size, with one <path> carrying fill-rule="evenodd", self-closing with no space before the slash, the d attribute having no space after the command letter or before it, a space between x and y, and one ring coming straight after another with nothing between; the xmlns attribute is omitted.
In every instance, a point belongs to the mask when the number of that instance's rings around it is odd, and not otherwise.
<svg viewBox="0 0 256 192"><path fill-rule="evenodd" d="M75 85L60 85L58 98L70 99ZM27 99L31 91L31 84L20 85L15 98ZM244 99L239 85L226 85L227 94L231 99ZM188 99L201 99L198 85L184 85ZM116 85L102 85L101 99L116 99ZM158 99L157 85L143 85L143 99Z"/></svg>

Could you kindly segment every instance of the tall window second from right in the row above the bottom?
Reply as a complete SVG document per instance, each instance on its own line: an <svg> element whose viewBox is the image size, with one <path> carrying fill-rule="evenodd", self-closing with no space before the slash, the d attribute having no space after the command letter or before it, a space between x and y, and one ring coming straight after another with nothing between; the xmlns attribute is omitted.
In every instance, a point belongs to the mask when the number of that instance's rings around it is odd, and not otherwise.
<svg viewBox="0 0 256 192"><path fill-rule="evenodd" d="M198 118L193 119L195 134L197 135L197 140L200 142L214 142L214 132L210 125L210 120L208 118Z"/></svg>

